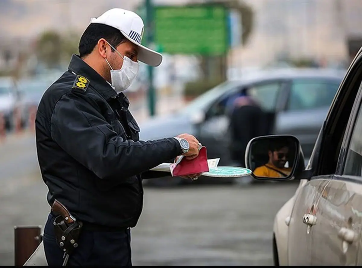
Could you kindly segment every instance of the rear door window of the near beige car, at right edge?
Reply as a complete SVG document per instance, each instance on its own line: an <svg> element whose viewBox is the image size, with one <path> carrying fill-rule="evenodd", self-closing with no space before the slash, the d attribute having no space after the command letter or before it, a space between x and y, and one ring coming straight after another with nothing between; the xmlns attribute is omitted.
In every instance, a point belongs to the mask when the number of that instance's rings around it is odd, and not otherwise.
<svg viewBox="0 0 362 268"><path fill-rule="evenodd" d="M344 175L362 176L362 109L359 108L349 143Z"/></svg>

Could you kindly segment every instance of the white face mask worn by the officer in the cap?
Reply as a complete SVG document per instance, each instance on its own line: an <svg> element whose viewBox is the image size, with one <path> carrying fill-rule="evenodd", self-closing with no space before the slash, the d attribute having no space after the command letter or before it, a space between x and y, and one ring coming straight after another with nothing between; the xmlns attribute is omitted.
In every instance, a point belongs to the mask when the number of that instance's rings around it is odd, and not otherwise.
<svg viewBox="0 0 362 268"><path fill-rule="evenodd" d="M108 43L108 42L107 42ZM108 45L110 45L108 43ZM110 45L111 48L113 46ZM117 93L126 90L131 85L133 79L138 74L139 70L139 63L132 61L130 58L126 56L122 56L121 53L119 53L115 48L113 48L119 56L123 59L123 64L121 69L119 70L113 70L112 66L109 64L108 60L106 62L108 63L109 67L111 68L111 84L114 87L115 91Z"/></svg>

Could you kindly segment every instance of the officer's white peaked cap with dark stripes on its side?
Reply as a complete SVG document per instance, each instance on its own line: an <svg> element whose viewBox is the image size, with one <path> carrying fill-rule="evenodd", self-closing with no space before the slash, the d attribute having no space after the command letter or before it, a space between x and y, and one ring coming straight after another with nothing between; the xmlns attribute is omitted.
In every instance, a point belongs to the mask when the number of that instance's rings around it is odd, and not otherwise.
<svg viewBox="0 0 362 268"><path fill-rule="evenodd" d="M142 18L136 13L122 8L112 8L101 16L92 18L90 23L105 24L120 30L129 41L139 47L139 61L151 66L161 64L162 55L160 53L141 45L144 24Z"/></svg>

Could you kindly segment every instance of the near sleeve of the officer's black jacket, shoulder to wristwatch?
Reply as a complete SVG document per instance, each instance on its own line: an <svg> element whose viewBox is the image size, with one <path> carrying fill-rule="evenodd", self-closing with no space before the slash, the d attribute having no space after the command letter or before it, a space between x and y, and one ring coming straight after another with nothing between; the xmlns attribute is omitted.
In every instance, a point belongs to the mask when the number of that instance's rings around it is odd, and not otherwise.
<svg viewBox="0 0 362 268"><path fill-rule="evenodd" d="M173 138L123 140L87 94L70 92L56 103L50 119L52 139L101 179L127 178L181 153Z"/></svg>

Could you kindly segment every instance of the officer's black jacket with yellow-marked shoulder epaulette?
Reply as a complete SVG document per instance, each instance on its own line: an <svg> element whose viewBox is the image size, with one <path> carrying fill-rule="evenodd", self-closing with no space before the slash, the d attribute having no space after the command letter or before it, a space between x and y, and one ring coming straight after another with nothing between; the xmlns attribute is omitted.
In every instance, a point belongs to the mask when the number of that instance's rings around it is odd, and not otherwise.
<svg viewBox="0 0 362 268"><path fill-rule="evenodd" d="M90 226L136 225L142 174L180 155L181 147L173 138L140 141L128 107L123 93L72 56L68 70L43 94L35 120L50 205L58 199Z"/></svg>

